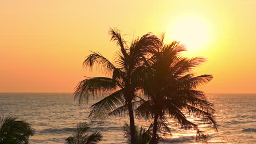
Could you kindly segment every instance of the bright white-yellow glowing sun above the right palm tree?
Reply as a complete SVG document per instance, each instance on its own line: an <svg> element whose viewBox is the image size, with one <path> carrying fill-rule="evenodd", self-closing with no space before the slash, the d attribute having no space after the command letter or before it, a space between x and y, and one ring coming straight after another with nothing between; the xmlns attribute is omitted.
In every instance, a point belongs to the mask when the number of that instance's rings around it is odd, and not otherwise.
<svg viewBox="0 0 256 144"><path fill-rule="evenodd" d="M210 37L207 23L195 17L179 19L174 22L168 33L170 33L172 40L184 44L189 53L202 51Z"/></svg>

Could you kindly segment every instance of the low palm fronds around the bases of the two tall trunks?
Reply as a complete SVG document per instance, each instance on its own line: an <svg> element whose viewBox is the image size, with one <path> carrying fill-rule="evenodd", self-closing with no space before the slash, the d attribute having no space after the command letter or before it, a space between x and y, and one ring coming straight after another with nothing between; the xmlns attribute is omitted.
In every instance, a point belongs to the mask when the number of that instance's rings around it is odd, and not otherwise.
<svg viewBox="0 0 256 144"><path fill-rule="evenodd" d="M138 126L135 127L136 131L136 139L138 144L148 144L152 138L152 128L153 125L150 124L149 128L146 129L141 126L139 128ZM131 129L130 125L125 123L123 126L123 131L124 131L124 138L127 139L127 143L131 143Z"/></svg>

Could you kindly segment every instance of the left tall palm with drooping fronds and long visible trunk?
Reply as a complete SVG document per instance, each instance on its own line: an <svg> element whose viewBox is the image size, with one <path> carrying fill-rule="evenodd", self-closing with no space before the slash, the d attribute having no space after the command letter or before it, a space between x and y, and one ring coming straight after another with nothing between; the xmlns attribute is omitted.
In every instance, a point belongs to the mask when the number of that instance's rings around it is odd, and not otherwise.
<svg viewBox="0 0 256 144"><path fill-rule="evenodd" d="M109 95L91 106L89 117L91 119L104 119L110 115L120 116L121 113L129 112L131 127L131 143L136 143L135 122L133 116L133 100L136 99L138 89L138 77L143 75L138 68L143 65L149 50L153 50L160 44L160 40L150 33L132 41L130 46L116 28L110 28L111 40L120 47L115 57L114 64L108 61L98 52L92 52L84 61L85 67L100 66L112 77L88 77L78 83L74 92L74 99L79 104L88 103L89 97L98 94ZM121 109L117 109L121 106Z"/></svg>

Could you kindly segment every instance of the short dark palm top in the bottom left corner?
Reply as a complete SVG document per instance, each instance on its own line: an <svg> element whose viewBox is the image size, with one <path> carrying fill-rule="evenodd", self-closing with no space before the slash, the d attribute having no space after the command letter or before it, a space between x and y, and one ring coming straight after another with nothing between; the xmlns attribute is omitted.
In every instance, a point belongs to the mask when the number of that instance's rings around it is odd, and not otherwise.
<svg viewBox="0 0 256 144"><path fill-rule="evenodd" d="M0 143L27 144L34 135L31 125L13 116L0 116Z"/></svg>

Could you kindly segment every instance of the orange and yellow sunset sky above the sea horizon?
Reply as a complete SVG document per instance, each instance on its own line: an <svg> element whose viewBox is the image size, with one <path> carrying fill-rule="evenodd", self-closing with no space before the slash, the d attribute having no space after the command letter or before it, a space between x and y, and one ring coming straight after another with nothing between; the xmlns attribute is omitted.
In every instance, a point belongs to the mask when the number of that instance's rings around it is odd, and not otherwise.
<svg viewBox="0 0 256 144"><path fill-rule="evenodd" d="M185 56L208 61L196 74L214 79L207 93L256 93L256 1L63 1L0 2L0 92L73 92L84 57L98 51L113 60L109 27L131 40L166 32Z"/></svg>

